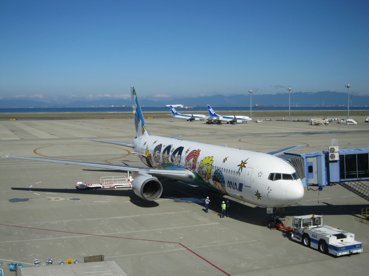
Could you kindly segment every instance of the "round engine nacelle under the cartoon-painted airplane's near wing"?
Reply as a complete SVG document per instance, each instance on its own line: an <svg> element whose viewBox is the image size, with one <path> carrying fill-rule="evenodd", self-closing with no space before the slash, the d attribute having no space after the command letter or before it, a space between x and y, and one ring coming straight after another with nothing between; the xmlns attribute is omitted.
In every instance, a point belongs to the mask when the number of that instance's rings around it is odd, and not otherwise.
<svg viewBox="0 0 369 276"><path fill-rule="evenodd" d="M163 186L158 178L147 173L137 173L131 184L135 194L147 201L158 199L163 192Z"/></svg>

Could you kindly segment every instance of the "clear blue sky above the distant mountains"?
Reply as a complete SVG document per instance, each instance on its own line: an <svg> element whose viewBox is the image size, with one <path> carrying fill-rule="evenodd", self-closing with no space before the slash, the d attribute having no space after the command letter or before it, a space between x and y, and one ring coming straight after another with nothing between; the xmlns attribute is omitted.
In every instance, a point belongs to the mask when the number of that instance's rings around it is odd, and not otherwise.
<svg viewBox="0 0 369 276"><path fill-rule="evenodd" d="M368 1L0 1L0 97L369 93Z"/></svg>

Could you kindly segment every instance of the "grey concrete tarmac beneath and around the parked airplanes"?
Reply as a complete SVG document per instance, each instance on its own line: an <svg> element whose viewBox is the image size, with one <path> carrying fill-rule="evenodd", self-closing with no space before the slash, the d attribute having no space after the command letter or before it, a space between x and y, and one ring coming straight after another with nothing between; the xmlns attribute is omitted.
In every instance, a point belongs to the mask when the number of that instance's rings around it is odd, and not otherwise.
<svg viewBox="0 0 369 276"><path fill-rule="evenodd" d="M355 117L353 117L355 119ZM303 145L295 152L321 152L337 138L340 149L368 147L369 124L263 121L207 125L201 121L146 119L152 135L271 152ZM155 202L130 188L77 190L77 181L98 182L125 173L95 167L5 158L5 155L88 160L143 166L131 148L82 138L131 142L132 119L0 121L0 261L32 266L104 254L129 276L142 275L366 275L369 224L360 222L367 199L342 185L305 189L304 198L281 216L323 214L323 222L355 234L361 254L334 257L266 228L266 208L245 204L206 188L163 181ZM203 203L210 197L210 210ZM230 200L230 217L220 219L220 203ZM286 222L291 226L291 220Z"/></svg>

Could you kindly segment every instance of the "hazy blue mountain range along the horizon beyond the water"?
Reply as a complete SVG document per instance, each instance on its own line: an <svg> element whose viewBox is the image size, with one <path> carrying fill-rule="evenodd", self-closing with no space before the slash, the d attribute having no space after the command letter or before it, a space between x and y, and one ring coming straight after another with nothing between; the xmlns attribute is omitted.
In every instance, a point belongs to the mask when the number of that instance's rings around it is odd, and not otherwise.
<svg viewBox="0 0 369 276"><path fill-rule="evenodd" d="M299 106L347 106L347 93L338 93L330 91L321 92L295 92L291 93L291 105ZM234 96L203 96L199 98L177 98L172 100L147 100L141 99L140 104L143 106L165 106L170 104L181 104L187 106L249 106L249 95L234 95ZM252 105L273 105L273 106L288 106L288 93L279 94L263 94L258 95L253 93ZM101 99L90 101L75 101L61 105L60 103L46 103L33 100L0 100L0 108L10 107L88 107L88 106L131 106L131 100L117 99ZM350 106L369 106L369 96L354 96L350 95Z"/></svg>

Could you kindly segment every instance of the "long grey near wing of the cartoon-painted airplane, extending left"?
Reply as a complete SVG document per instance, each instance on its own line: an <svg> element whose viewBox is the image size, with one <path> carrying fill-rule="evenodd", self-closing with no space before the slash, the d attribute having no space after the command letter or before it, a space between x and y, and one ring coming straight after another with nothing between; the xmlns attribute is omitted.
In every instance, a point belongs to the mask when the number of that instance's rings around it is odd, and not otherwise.
<svg viewBox="0 0 369 276"><path fill-rule="evenodd" d="M7 155L5 157L45 161L45 162L55 162L55 163L71 164L71 165L82 165L82 166L89 166L89 167L99 167L99 168L123 170L123 171L143 172L143 173L151 174L154 176L167 177L167 178L183 180L183 181L191 181L195 179L194 174L191 171L185 170L185 169L155 169L155 168L149 168L149 167L131 167L131 166L114 165L114 164L101 164L101 163L90 163L90 162L80 162L80 161L32 158L32 157L23 157L23 156L10 156L10 155Z"/></svg>

